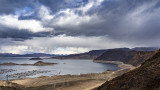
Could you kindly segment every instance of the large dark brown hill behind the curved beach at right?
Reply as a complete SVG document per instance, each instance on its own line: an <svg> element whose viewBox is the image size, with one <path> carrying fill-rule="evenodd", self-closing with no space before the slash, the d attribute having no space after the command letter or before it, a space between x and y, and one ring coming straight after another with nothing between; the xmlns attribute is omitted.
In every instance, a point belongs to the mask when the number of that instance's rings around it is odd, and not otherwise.
<svg viewBox="0 0 160 90"><path fill-rule="evenodd" d="M97 57L95 60L101 61L122 61L127 64L137 66L144 62L144 60L151 57L153 51L135 51L135 50L121 50L111 49Z"/></svg>

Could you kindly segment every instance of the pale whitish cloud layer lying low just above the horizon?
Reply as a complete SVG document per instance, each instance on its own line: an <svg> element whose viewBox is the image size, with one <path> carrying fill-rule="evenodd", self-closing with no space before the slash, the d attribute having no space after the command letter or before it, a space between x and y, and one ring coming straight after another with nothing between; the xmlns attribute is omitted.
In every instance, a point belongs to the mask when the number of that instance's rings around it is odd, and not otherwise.
<svg viewBox="0 0 160 90"><path fill-rule="evenodd" d="M1 41L4 41L2 39ZM54 37L35 37L25 41L6 40L0 47L3 53L54 53L54 54L72 54L82 53L94 49L108 49L124 47L125 45L133 47L125 42L115 42L104 36L66 36L58 35ZM104 42L105 41L105 42Z"/></svg>

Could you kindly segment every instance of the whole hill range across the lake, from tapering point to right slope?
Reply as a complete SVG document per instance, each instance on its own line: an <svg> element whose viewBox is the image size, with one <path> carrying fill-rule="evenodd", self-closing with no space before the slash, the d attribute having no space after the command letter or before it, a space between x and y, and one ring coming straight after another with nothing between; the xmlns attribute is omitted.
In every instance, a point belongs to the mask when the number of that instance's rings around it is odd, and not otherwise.
<svg viewBox="0 0 160 90"><path fill-rule="evenodd" d="M52 59L91 59L101 61L122 61L137 66L148 59L157 47L114 48L92 50L86 53L56 56Z"/></svg>

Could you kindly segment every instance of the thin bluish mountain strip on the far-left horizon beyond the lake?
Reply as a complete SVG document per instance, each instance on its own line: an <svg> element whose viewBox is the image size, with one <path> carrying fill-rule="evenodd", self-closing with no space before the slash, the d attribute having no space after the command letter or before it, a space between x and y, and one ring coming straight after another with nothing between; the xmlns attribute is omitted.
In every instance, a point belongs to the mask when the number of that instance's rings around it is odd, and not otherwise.
<svg viewBox="0 0 160 90"><path fill-rule="evenodd" d="M45 53L33 53L33 54L0 53L0 57L55 57L55 56L60 56L60 55L45 54Z"/></svg>

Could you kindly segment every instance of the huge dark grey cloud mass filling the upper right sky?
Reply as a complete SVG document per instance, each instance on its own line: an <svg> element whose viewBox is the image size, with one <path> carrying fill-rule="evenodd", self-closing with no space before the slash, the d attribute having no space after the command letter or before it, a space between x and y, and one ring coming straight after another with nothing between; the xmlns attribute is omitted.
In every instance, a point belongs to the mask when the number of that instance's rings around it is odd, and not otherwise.
<svg viewBox="0 0 160 90"><path fill-rule="evenodd" d="M80 25L55 26L68 35L103 36L117 41L150 43L160 38L159 0L105 0L86 15L97 14L99 20Z"/></svg>

